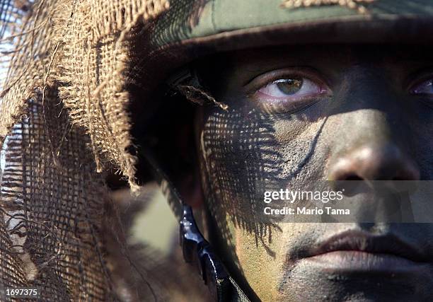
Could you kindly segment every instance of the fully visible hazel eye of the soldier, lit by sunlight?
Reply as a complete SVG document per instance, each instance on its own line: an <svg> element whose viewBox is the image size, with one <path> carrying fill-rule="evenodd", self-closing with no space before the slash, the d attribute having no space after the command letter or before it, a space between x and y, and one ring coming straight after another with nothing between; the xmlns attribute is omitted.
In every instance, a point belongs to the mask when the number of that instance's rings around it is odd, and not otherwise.
<svg viewBox="0 0 433 302"><path fill-rule="evenodd" d="M268 113L294 113L330 95L330 88L316 74L272 71L253 80L253 100Z"/></svg>

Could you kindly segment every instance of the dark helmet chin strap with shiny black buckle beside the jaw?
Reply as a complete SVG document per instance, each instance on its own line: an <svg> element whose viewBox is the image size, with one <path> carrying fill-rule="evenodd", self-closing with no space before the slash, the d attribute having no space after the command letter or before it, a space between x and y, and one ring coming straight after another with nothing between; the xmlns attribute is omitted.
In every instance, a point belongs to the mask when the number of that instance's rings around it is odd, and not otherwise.
<svg viewBox="0 0 433 302"><path fill-rule="evenodd" d="M185 262L195 267L215 301L249 302L250 300L229 275L210 243L200 233L192 208L183 202L173 182L161 168L162 165L158 164L149 149L144 150L143 155L176 218L180 221L180 247Z"/></svg>

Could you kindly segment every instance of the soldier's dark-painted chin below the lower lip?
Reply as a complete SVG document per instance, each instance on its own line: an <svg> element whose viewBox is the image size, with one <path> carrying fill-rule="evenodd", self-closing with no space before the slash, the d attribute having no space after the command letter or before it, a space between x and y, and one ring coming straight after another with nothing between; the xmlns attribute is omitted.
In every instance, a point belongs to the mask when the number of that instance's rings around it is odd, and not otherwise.
<svg viewBox="0 0 433 302"><path fill-rule="evenodd" d="M333 262L334 255L327 260L299 263L280 282L280 301L433 301L429 265L372 257L376 259L367 255L365 261L383 262L383 265L371 267L364 262L349 267L344 260Z"/></svg>

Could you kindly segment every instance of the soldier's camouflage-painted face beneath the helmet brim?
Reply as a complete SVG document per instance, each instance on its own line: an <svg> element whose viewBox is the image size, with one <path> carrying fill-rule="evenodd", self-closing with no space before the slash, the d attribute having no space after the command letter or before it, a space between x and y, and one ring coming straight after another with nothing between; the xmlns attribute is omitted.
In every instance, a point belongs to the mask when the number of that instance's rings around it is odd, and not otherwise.
<svg viewBox="0 0 433 302"><path fill-rule="evenodd" d="M431 223L267 223L257 216L263 190L289 183L433 180L432 51L311 45L201 64L212 95L229 105L197 114L211 238L251 296L433 298Z"/></svg>

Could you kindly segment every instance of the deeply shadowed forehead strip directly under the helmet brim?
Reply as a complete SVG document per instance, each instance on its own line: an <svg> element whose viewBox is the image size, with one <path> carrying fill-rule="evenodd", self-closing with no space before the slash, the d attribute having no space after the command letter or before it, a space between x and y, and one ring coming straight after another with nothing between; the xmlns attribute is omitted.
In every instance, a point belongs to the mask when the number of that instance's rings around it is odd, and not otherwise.
<svg viewBox="0 0 433 302"><path fill-rule="evenodd" d="M291 66L313 66L330 76L351 66L410 74L433 66L432 51L433 47L426 45L287 45L224 52L202 60L198 66L208 78L230 81Z"/></svg>

